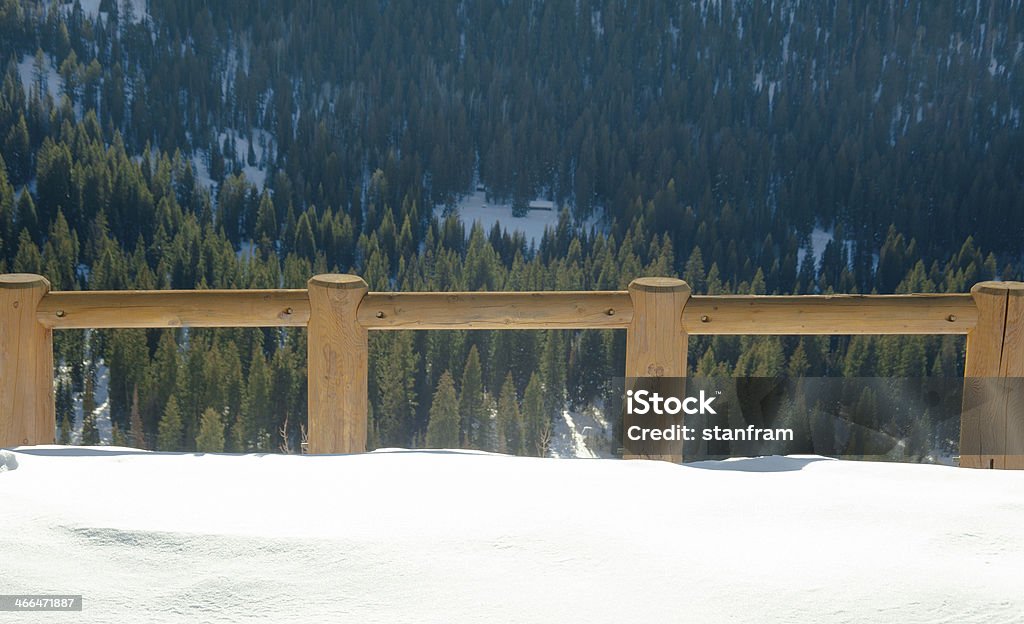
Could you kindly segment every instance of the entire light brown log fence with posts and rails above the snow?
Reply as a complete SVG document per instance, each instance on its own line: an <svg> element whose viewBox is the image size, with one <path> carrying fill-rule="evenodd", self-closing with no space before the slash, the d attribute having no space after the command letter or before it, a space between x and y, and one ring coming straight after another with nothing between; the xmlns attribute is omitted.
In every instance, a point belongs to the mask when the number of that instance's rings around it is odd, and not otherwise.
<svg viewBox="0 0 1024 624"><path fill-rule="evenodd" d="M681 280L625 291L368 292L321 275L305 290L54 291L0 276L0 447L52 444L55 329L306 327L310 453L367 443L368 332L625 329L626 377L683 377L690 335L967 334L961 465L1024 468L1024 406L977 378L1024 377L1024 283L970 294L690 295ZM678 457L677 457L678 458Z"/></svg>

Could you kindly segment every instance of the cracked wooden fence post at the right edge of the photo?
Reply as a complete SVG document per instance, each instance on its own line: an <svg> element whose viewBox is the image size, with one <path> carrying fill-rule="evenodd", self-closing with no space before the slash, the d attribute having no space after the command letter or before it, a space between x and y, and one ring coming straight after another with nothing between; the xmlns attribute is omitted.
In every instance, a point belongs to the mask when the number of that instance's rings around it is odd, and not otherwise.
<svg viewBox="0 0 1024 624"><path fill-rule="evenodd" d="M971 294L959 465L1024 469L1024 283L982 282Z"/></svg>

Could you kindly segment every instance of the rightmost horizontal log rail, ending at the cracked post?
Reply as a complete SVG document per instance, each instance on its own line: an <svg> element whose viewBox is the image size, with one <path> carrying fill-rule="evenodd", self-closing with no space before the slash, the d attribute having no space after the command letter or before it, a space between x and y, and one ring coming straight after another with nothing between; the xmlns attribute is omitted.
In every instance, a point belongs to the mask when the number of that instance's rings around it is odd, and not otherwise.
<svg viewBox="0 0 1024 624"><path fill-rule="evenodd" d="M693 295L690 335L966 334L978 323L970 294Z"/></svg>

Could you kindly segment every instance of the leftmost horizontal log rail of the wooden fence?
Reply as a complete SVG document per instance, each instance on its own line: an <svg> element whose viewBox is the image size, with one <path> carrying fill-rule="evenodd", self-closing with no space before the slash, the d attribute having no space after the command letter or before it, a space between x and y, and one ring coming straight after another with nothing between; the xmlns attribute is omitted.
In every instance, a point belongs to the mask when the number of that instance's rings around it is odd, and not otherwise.
<svg viewBox="0 0 1024 624"><path fill-rule="evenodd" d="M39 323L52 329L305 327L309 297L296 290L51 292Z"/></svg>

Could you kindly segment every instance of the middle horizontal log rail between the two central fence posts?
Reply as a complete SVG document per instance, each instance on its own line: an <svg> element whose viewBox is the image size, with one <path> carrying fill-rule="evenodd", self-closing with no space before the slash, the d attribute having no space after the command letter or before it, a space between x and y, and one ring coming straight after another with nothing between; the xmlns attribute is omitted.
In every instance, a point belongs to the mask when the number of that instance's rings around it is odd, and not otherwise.
<svg viewBox="0 0 1024 624"><path fill-rule="evenodd" d="M626 329L633 303L626 291L372 292L358 314L367 329Z"/></svg>

